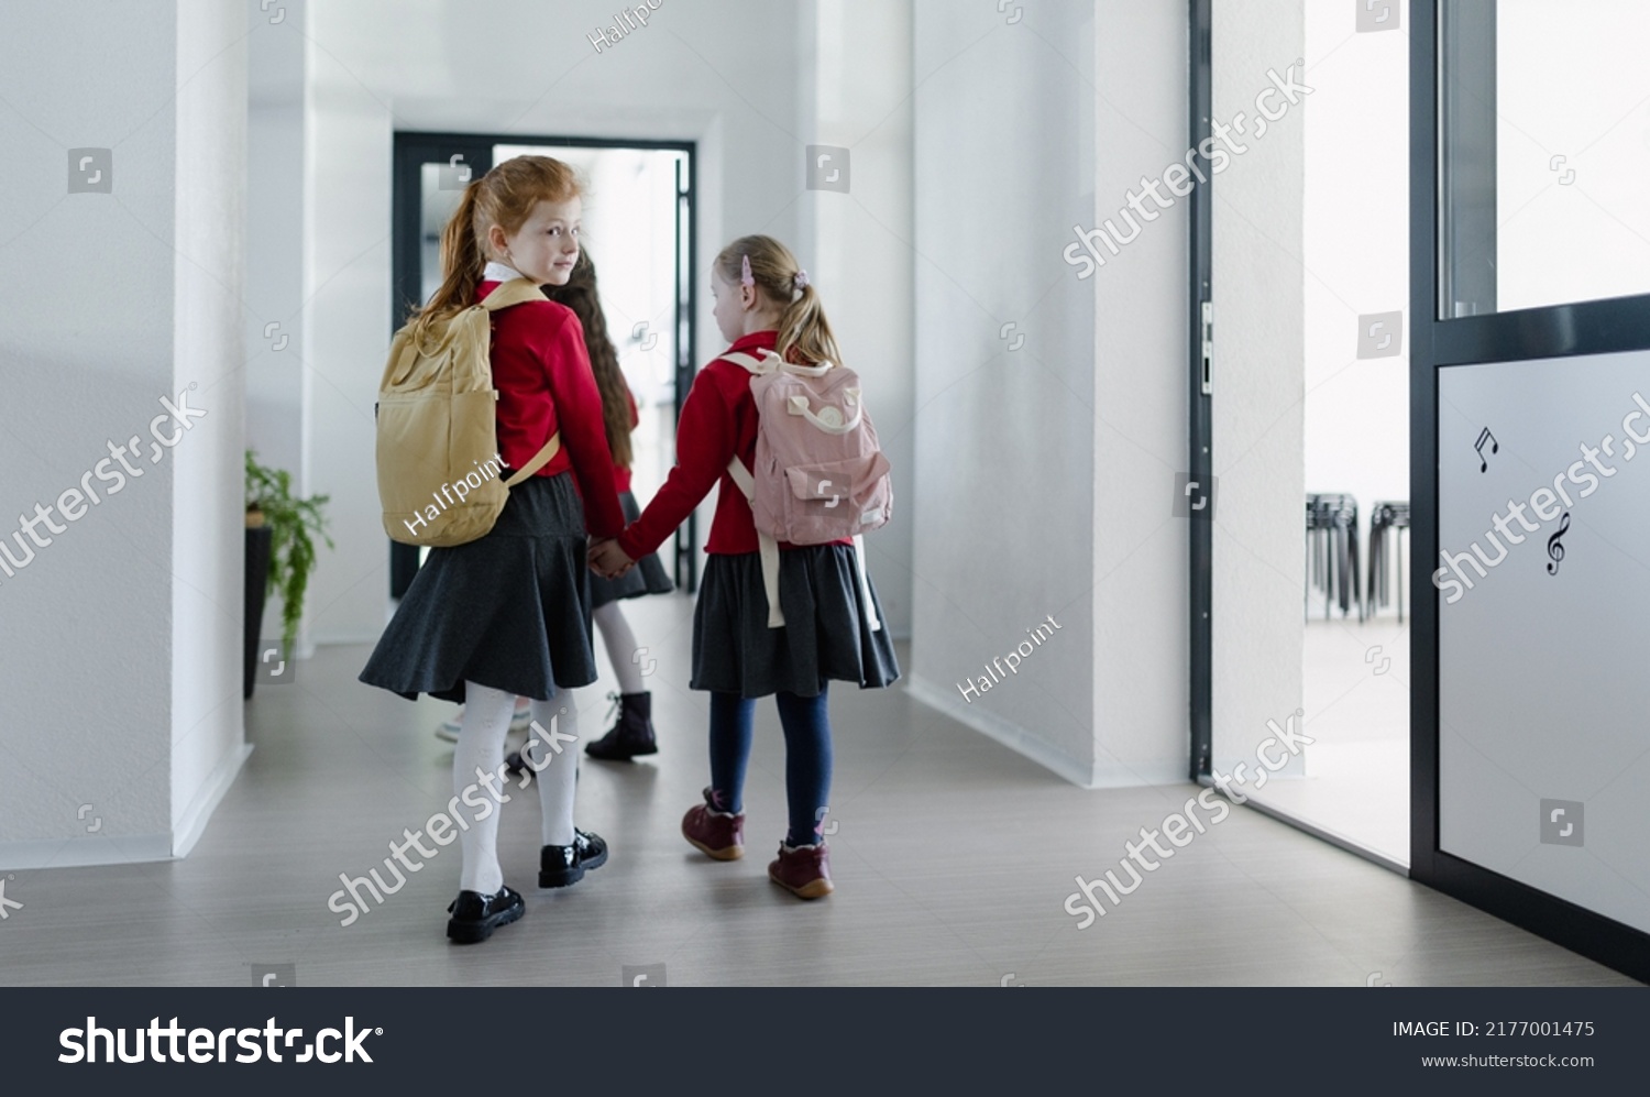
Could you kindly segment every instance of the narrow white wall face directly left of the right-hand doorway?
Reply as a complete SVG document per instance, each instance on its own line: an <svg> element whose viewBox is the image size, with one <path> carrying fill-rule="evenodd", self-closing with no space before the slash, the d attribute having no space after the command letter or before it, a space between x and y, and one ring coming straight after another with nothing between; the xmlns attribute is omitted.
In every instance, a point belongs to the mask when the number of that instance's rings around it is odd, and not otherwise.
<svg viewBox="0 0 1650 1097"><path fill-rule="evenodd" d="M1096 216L1186 153L1188 20L1180 5L1097 5ZM1094 784L1183 780L1188 769L1186 200L1142 226L1096 292ZM1092 226L1089 221L1087 226ZM1074 239L1074 238L1072 238Z"/></svg>

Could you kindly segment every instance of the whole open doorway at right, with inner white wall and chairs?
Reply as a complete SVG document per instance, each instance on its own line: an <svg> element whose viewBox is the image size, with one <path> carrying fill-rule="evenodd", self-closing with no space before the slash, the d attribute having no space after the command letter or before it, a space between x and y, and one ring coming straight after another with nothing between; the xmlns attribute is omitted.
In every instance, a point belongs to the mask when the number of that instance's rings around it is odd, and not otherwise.
<svg viewBox="0 0 1650 1097"><path fill-rule="evenodd" d="M1195 234L1211 351L1201 391L1193 365L1191 467L1206 447L1218 497L1193 528L1193 775L1398 871L1409 41L1391 31L1406 7L1277 5L1264 25L1204 8L1209 71L1193 84L1195 127L1231 157Z"/></svg>

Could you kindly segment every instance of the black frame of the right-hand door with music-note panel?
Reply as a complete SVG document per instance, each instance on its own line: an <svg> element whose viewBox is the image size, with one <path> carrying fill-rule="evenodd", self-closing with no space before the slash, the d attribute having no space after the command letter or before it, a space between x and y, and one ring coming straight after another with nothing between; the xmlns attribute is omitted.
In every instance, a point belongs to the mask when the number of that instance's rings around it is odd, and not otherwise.
<svg viewBox="0 0 1650 1097"><path fill-rule="evenodd" d="M1493 18L1493 10L1492 10ZM1452 366L1650 348L1650 295L1439 320L1439 3L1409 16L1409 876L1650 982L1650 934L1464 861L1439 846L1439 373ZM1493 101L1492 101L1493 102Z"/></svg>

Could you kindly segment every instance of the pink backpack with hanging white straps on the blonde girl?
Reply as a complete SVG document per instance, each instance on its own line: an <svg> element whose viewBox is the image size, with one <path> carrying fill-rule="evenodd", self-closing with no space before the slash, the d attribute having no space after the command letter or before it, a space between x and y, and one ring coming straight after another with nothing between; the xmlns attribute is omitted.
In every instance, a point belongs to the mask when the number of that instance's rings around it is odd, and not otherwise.
<svg viewBox="0 0 1650 1097"><path fill-rule="evenodd" d="M894 488L876 427L865 411L860 378L846 366L797 366L774 351L761 358L723 355L751 371L756 399L756 468L734 457L728 472L751 501L762 548L767 625L785 624L779 612L779 541L825 544L853 538L860 596L871 609L861 534L888 525Z"/></svg>

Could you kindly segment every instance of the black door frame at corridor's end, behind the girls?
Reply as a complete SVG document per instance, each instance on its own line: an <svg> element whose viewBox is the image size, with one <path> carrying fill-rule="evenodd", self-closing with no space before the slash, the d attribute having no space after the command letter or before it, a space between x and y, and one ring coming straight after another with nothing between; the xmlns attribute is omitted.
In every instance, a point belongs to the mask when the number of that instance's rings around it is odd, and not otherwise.
<svg viewBox="0 0 1650 1097"><path fill-rule="evenodd" d="M672 330L676 333L676 417L681 403L693 388L695 345L698 333L698 142L691 140L640 140L607 137L538 137L523 134L452 134L398 130L391 173L391 333L399 328L408 313L422 304L421 266L421 170L426 163L441 163L454 155L464 158L472 172L490 172L493 145L564 145L573 148L662 148L686 155L686 170L676 173L676 239L686 239L680 251L676 271L676 317ZM688 520L675 534L675 581L690 594L698 589L698 515ZM389 543L389 597L399 599L417 574L419 551L412 544Z"/></svg>

